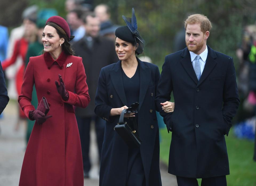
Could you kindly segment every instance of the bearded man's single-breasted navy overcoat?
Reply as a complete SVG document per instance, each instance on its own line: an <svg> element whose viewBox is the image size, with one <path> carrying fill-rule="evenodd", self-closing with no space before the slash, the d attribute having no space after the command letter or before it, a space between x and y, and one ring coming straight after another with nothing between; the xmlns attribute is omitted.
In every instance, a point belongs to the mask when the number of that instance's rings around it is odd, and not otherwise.
<svg viewBox="0 0 256 186"><path fill-rule="evenodd" d="M205 68L197 80L187 48L167 55L157 88L156 102L170 100L175 109L164 117L171 128L168 172L189 178L209 178L229 174L224 135L238 105L233 59L209 46Z"/></svg>

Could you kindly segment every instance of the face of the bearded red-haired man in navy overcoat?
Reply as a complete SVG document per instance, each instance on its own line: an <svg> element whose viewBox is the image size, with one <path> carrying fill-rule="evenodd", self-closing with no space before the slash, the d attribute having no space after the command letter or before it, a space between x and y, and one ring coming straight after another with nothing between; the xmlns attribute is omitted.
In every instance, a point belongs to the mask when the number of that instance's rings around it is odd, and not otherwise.
<svg viewBox="0 0 256 186"><path fill-rule="evenodd" d="M187 24L186 45L189 51L199 55L206 49L206 40L209 37L209 31L203 33L200 23Z"/></svg>

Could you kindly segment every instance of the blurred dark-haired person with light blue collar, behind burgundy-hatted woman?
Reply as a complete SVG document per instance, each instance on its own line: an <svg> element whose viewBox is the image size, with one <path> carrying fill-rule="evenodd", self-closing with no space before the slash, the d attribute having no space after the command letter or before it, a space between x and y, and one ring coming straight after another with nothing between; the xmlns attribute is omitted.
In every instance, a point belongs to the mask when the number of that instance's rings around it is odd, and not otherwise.
<svg viewBox="0 0 256 186"><path fill-rule="evenodd" d="M83 13L81 9L76 8L67 14L67 23L70 26L71 35L75 36L72 42L80 40L85 35Z"/></svg>

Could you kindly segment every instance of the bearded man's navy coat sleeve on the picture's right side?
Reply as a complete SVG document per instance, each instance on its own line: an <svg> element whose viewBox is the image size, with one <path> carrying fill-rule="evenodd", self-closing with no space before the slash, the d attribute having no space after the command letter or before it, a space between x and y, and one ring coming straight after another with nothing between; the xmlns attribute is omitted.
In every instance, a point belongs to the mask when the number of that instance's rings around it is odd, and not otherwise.
<svg viewBox="0 0 256 186"><path fill-rule="evenodd" d="M223 119L226 122L226 135L232 127L232 119L237 112L240 100L238 98L238 89L233 58L229 58L224 89L223 89Z"/></svg>

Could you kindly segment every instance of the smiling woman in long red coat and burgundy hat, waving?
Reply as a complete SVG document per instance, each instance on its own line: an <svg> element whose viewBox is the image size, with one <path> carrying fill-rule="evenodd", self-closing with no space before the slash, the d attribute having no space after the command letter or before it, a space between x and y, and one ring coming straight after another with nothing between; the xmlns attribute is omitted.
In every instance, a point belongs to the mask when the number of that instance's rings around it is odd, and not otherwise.
<svg viewBox="0 0 256 186"><path fill-rule="evenodd" d="M52 16L46 21L44 54L30 57L18 98L25 115L35 120L25 152L19 186L83 185L81 144L73 105L89 102L82 58L70 47L67 22ZM57 81L56 81L57 80ZM47 115L31 105L33 85L38 102L46 97Z"/></svg>

